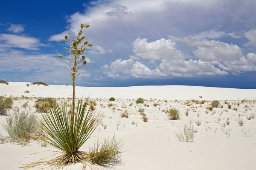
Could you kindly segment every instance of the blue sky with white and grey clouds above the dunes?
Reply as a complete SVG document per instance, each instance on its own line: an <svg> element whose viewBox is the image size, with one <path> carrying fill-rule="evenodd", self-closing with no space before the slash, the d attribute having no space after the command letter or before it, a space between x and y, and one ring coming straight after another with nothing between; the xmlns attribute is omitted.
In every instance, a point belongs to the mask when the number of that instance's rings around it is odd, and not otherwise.
<svg viewBox="0 0 256 170"><path fill-rule="evenodd" d="M26 2L26 3L24 3ZM12 8L10 8L12 6ZM71 82L64 35L81 23L77 85L256 88L255 0L0 1L0 79Z"/></svg>

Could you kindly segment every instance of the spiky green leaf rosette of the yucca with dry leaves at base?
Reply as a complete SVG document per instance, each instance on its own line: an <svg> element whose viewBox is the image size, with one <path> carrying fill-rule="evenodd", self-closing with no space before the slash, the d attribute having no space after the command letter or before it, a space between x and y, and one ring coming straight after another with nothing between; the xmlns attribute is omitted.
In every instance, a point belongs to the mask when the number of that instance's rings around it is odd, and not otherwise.
<svg viewBox="0 0 256 170"><path fill-rule="evenodd" d="M93 131L102 120L101 113L96 113L88 106L89 99L81 101L76 107L75 121L73 129L71 128L71 117L65 102L58 103L55 107L49 109L49 113L43 114L43 137L38 137L53 147L61 150L62 155L45 162L35 162L47 164L56 167L76 164L78 162L87 164L89 160L85 152L79 151L79 148L92 135ZM32 164L30 164L32 167ZM29 164L25 166L28 168Z"/></svg>

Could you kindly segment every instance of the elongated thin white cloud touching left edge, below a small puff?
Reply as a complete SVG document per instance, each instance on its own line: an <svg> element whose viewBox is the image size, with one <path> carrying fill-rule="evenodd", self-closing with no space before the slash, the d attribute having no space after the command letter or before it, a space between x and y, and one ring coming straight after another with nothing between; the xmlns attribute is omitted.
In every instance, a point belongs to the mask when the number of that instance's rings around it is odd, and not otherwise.
<svg viewBox="0 0 256 170"><path fill-rule="evenodd" d="M39 50L39 47L47 45L40 43L37 38L15 35L0 34L0 48L23 48L28 50Z"/></svg>

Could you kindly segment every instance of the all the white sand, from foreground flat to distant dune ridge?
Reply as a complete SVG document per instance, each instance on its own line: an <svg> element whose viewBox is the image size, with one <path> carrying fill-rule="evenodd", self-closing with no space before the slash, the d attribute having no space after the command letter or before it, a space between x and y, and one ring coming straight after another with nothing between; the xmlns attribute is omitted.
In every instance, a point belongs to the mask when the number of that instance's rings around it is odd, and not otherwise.
<svg viewBox="0 0 256 170"><path fill-rule="evenodd" d="M24 91L30 91L29 94ZM26 87L26 82L10 82L9 85L0 84L0 96L35 96L35 97L72 97L72 86L65 85L30 85ZM115 133L117 139L123 139L122 164L116 166L117 170L254 170L256 167L256 119L247 120L247 116L256 114L256 90L230 89L230 88L209 88L195 86L140 86L125 88L90 88L76 87L76 97L87 97L96 99L97 110L104 113L103 125L107 125L105 130L101 125L93 133L95 138L91 138L80 150L87 151L89 146L93 146L97 136L100 140L107 136L112 137ZM109 102L108 98L115 97L116 101ZM206 114L206 108L211 102L204 105L193 103L187 106L187 99L222 100L224 108L214 108ZM136 104L137 97L148 99L143 104ZM119 99L118 99L119 98ZM153 100L150 101L149 99ZM158 99L161 99L159 101ZM163 100L167 99L168 102ZM177 99L178 101L174 101ZM200 99L200 100L203 100ZM224 100L228 101L232 108L228 109ZM241 103L241 99L250 99ZM172 100L172 101L171 101ZM183 100L183 101L179 101ZM27 100L15 100L14 107L21 108ZM132 106L129 104L133 102ZM235 104L236 102L236 104ZM108 103L115 104L108 108ZM154 103L160 106L154 107ZM101 108L103 104L105 108ZM34 102L29 100L32 111ZM126 107L126 108L122 108ZM148 116L148 122L143 122L138 113L139 108L144 108ZM177 108L180 111L180 120L169 120L163 109ZM122 111L128 110L129 118L120 118ZM189 110L189 116L185 116L185 111ZM227 111L227 112L226 112ZM222 114L221 114L222 112ZM10 111L12 114L12 110ZM197 116L199 113L199 117ZM40 116L40 113L36 113ZM230 118L230 125L223 127L227 117ZM244 126L237 124L238 119L243 119ZM194 127L198 130L195 134L195 142L177 142L175 130L181 124L189 120L201 120L201 126ZM118 130L116 122L120 121ZM137 125L132 125L132 122ZM6 116L0 116L0 133L6 135L2 124L6 123ZM225 134L225 133L228 134ZM13 143L0 144L0 169L18 170L23 163L31 163L39 159L51 156L47 150L56 150L53 147L41 147L40 142L32 142L27 146L20 146ZM39 152L39 153L38 153ZM30 155L32 153L37 153ZM39 170L32 168L31 170ZM46 168L47 169L47 168ZM65 167L64 170L80 170L81 165ZM103 168L104 169L104 168ZM49 170L49 169L48 169ZM59 169L61 170L61 169ZM88 167L87 170L90 170Z"/></svg>

